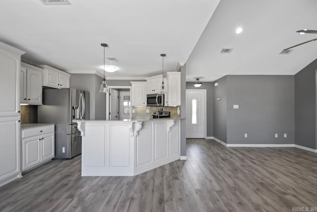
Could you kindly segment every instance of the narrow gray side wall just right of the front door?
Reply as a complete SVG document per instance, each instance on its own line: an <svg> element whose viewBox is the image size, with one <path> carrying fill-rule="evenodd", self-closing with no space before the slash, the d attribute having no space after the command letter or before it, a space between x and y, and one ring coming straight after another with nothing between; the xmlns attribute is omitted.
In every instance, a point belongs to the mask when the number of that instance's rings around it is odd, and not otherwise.
<svg viewBox="0 0 317 212"><path fill-rule="evenodd" d="M227 142L227 77L224 76L214 83L213 87L213 137ZM221 97L221 100L216 98Z"/></svg>

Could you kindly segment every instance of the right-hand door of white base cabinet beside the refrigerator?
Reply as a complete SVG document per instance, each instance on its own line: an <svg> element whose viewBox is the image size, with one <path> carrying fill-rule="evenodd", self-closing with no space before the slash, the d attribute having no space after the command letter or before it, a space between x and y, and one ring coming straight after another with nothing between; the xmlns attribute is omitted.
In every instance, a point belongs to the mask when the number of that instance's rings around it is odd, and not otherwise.
<svg viewBox="0 0 317 212"><path fill-rule="evenodd" d="M55 155L55 142L54 142L54 134L43 135L41 138L41 161L52 159Z"/></svg>

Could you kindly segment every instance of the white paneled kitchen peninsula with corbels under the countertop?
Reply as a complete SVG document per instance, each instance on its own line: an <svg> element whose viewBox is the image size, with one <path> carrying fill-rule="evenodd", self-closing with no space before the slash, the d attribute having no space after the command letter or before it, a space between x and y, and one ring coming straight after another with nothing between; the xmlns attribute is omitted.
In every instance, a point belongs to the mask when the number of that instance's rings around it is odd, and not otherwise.
<svg viewBox="0 0 317 212"><path fill-rule="evenodd" d="M180 119L77 123L82 176L133 176L180 159Z"/></svg>

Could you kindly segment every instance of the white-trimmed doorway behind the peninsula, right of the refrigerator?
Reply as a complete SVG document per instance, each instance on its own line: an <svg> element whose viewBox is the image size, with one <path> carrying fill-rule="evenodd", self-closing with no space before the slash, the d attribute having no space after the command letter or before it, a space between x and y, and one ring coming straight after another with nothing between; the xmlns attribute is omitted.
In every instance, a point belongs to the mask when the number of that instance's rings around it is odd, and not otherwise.
<svg viewBox="0 0 317 212"><path fill-rule="evenodd" d="M131 86L108 86L106 94L106 120L131 119Z"/></svg>

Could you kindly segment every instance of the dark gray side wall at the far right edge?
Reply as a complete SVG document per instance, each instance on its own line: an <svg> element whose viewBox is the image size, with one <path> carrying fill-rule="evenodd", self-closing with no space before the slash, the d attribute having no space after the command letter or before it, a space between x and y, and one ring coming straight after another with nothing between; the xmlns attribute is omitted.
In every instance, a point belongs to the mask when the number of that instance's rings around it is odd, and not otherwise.
<svg viewBox="0 0 317 212"><path fill-rule="evenodd" d="M317 149L317 59L295 74L295 144Z"/></svg>

